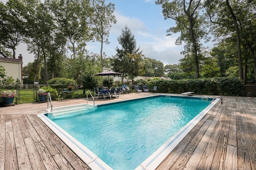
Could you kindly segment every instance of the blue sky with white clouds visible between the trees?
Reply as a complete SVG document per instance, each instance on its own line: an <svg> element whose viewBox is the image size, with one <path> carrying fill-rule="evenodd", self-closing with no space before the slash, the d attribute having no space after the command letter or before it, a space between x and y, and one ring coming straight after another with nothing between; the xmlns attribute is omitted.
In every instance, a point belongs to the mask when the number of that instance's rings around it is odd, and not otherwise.
<svg viewBox="0 0 256 170"><path fill-rule="evenodd" d="M105 4L115 4L114 16L116 24L112 24L109 34L110 44L103 45L103 51L108 57L116 54L116 47L121 48L117 38L122 34L122 29L127 26L136 40L137 48L140 47L145 57L156 59L167 64L178 64L183 55L183 45L175 45L179 34L166 36L170 27L175 26L172 19L164 20L162 7L155 4L156 0L105 0ZM7 0L2 0L3 3ZM34 55L26 50L26 44L20 44L16 49L17 57L23 56L24 65L33 62ZM100 54L100 43L89 42L86 49L90 53Z"/></svg>

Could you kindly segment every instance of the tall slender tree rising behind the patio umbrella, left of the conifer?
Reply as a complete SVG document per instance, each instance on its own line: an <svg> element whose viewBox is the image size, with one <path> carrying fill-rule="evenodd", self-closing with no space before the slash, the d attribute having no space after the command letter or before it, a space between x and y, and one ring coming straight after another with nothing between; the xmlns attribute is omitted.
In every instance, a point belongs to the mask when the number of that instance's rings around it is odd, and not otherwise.
<svg viewBox="0 0 256 170"><path fill-rule="evenodd" d="M90 15L90 20L92 21L94 27L92 32L96 41L101 43L100 46L100 59L101 66L103 67L103 43L109 44L108 36L109 30L112 27L111 23L116 24L116 18L113 15L115 4L109 3L108 5L104 4L105 0L90 0L93 8L93 13Z"/></svg>

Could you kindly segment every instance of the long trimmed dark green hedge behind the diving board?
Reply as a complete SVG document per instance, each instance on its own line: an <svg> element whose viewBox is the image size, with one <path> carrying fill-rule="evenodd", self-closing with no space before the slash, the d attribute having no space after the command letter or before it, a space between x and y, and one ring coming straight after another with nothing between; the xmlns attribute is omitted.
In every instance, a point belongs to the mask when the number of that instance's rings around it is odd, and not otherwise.
<svg viewBox="0 0 256 170"><path fill-rule="evenodd" d="M193 91L196 94L204 95L228 95L241 96L244 83L238 78L217 77L211 79L182 79L163 80L152 79L148 88L158 86L159 93L184 93Z"/></svg>

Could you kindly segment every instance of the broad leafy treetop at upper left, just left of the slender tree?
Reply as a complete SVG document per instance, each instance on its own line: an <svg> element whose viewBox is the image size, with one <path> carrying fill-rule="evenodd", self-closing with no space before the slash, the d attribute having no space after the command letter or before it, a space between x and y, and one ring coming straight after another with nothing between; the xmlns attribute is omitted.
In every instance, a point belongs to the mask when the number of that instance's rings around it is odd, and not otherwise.
<svg viewBox="0 0 256 170"><path fill-rule="evenodd" d="M91 15L91 7L86 0L47 0L45 4L49 6L54 14L54 20L58 23L58 29L72 44L68 45L75 58L77 51L84 48L84 42L92 40L90 22L88 17ZM76 43L80 44L76 48Z"/></svg>

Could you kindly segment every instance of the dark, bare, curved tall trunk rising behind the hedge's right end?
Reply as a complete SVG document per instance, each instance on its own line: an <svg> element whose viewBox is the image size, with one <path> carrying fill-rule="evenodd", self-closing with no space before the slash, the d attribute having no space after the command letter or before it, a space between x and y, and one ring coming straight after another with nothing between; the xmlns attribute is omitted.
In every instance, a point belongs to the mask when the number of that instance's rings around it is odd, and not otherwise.
<svg viewBox="0 0 256 170"><path fill-rule="evenodd" d="M236 50L237 50L237 55L238 55L239 76L240 76L240 79L243 80L244 75L243 75L243 64L242 64L242 52L241 52L241 42L240 42L240 34L239 34L237 19L236 19L236 16L235 16L228 0L226 0L226 5L228 6L228 10L233 18L234 26L236 29Z"/></svg>

